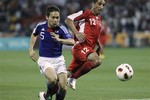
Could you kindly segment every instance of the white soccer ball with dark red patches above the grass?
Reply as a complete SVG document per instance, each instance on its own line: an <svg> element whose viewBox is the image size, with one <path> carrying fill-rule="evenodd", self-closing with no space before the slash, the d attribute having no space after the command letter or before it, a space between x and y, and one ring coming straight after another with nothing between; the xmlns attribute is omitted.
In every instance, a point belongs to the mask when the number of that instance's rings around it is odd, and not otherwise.
<svg viewBox="0 0 150 100"><path fill-rule="evenodd" d="M131 65L129 65L127 63L119 65L116 68L116 76L121 81L130 80L133 76L133 69L132 69Z"/></svg>

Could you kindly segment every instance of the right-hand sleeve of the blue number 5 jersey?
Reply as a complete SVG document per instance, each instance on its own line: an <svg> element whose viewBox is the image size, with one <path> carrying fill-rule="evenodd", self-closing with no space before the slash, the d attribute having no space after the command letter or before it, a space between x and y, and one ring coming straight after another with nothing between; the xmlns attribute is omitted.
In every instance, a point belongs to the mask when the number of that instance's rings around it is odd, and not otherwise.
<svg viewBox="0 0 150 100"><path fill-rule="evenodd" d="M60 38L63 39L73 38L72 35L69 33L68 29L63 25L60 26L60 33L61 33Z"/></svg>

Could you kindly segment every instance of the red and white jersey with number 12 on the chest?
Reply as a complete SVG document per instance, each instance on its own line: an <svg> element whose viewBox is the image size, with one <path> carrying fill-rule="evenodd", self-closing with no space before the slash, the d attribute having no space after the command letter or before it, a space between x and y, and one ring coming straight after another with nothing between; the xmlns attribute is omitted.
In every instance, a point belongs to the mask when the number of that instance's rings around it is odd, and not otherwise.
<svg viewBox="0 0 150 100"><path fill-rule="evenodd" d="M95 16L90 10L79 11L68 16L69 19L77 21L76 28L85 33L85 41L81 45L90 46L94 49L101 30L101 17ZM76 41L78 41L75 38Z"/></svg>

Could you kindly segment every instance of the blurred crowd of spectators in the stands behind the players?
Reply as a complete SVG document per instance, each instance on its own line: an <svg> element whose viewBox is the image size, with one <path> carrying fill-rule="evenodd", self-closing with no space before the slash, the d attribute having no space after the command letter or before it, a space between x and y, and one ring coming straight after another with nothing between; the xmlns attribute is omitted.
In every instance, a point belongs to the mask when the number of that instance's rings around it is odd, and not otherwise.
<svg viewBox="0 0 150 100"><path fill-rule="evenodd" d="M61 23L67 15L90 6L88 0L0 0L0 37L30 36L51 4L61 9ZM150 31L150 0L106 0L101 15L114 36Z"/></svg>

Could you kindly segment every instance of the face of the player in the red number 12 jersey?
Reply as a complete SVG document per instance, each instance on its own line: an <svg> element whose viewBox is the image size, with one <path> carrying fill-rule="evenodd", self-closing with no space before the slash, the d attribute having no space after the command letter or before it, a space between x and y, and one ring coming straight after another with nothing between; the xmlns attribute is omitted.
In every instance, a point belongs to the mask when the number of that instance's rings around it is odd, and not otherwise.
<svg viewBox="0 0 150 100"><path fill-rule="evenodd" d="M95 15L99 15L99 13L103 10L105 6L105 0L97 0L96 3L93 3L93 11Z"/></svg>

